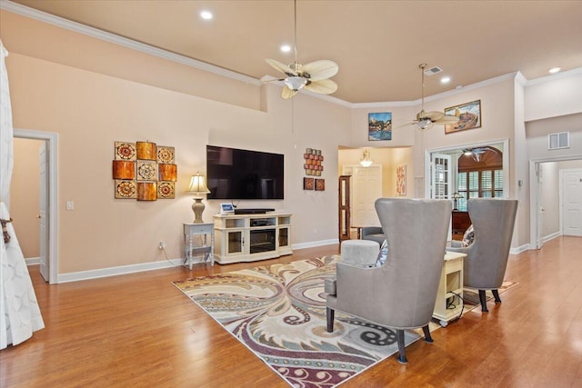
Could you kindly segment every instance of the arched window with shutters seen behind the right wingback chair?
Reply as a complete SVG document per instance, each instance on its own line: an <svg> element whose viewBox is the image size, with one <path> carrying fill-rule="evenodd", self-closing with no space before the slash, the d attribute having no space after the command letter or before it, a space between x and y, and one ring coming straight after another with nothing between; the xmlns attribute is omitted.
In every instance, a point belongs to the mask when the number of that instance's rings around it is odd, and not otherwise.
<svg viewBox="0 0 582 388"><path fill-rule="evenodd" d="M458 158L457 209L467 211L469 198L494 198L503 196L503 157L493 147L465 150Z"/></svg>

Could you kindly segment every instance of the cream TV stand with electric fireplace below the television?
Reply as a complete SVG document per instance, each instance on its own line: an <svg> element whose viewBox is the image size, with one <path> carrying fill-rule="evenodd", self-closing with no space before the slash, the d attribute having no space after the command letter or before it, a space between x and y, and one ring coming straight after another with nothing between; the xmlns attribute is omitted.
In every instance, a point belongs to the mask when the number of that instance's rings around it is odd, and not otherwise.
<svg viewBox="0 0 582 388"><path fill-rule="evenodd" d="M291 250L291 214L216 214L218 264L273 259Z"/></svg>

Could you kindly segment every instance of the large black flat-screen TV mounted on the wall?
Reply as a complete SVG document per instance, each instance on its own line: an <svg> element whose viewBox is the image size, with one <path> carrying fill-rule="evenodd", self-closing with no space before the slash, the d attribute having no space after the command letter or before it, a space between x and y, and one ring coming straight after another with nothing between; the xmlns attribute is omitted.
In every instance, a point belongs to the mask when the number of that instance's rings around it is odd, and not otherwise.
<svg viewBox="0 0 582 388"><path fill-rule="evenodd" d="M283 155L206 145L208 199L283 199Z"/></svg>

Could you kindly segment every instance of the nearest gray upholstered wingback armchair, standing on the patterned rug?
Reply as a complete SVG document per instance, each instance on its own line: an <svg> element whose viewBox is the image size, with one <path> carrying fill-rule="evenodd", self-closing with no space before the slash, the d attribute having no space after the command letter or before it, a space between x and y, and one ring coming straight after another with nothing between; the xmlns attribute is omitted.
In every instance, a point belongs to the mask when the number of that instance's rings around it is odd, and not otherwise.
<svg viewBox="0 0 582 388"><path fill-rule="evenodd" d="M406 363L404 330L422 327L426 342L444 263L451 203L379 198L376 213L387 236L387 259L372 268L336 264L326 282L327 331L335 311L396 329L398 361Z"/></svg>

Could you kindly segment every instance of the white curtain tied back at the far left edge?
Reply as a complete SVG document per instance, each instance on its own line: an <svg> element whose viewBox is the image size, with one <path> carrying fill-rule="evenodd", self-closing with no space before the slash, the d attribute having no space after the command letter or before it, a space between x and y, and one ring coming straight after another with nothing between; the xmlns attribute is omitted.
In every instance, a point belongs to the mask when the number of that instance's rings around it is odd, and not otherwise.
<svg viewBox="0 0 582 388"><path fill-rule="evenodd" d="M9 195L14 164L12 107L5 57L0 40L0 218L10 219ZM22 343L45 327L36 302L35 290L26 268L15 229L6 225L10 242L0 237L0 349Z"/></svg>

